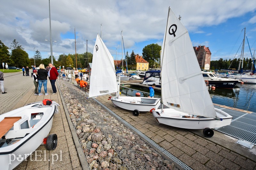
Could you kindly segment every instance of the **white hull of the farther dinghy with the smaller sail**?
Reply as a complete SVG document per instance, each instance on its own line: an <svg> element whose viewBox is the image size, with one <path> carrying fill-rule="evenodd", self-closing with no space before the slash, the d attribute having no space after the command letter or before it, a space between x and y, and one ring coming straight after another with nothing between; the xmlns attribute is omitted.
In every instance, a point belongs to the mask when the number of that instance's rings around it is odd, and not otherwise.
<svg viewBox="0 0 256 170"><path fill-rule="evenodd" d="M111 98L114 106L126 110L150 111L160 106L159 98L119 96Z"/></svg>

